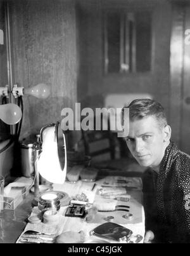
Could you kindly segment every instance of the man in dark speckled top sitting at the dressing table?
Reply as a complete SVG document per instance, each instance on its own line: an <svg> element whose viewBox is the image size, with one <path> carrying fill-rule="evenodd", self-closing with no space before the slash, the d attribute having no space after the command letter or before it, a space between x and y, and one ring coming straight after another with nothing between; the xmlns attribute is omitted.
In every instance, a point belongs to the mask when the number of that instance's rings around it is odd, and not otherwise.
<svg viewBox="0 0 190 256"><path fill-rule="evenodd" d="M190 242L190 158L171 142L162 105L137 99L129 104L132 156L147 167L143 177L144 243Z"/></svg>

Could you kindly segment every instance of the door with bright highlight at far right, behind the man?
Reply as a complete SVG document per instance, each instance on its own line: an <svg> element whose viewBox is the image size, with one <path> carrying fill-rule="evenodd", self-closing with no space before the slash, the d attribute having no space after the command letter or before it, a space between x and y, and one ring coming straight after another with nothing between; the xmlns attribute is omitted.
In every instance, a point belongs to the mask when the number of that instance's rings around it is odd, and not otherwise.
<svg viewBox="0 0 190 256"><path fill-rule="evenodd" d="M172 140L190 154L190 5L173 4L170 41Z"/></svg>

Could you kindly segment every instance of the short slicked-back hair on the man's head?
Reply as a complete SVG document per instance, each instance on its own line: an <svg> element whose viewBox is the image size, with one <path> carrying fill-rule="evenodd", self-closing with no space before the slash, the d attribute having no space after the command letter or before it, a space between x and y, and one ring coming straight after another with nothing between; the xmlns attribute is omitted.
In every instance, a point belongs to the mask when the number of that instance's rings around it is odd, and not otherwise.
<svg viewBox="0 0 190 256"><path fill-rule="evenodd" d="M122 112L124 112L124 108L122 109ZM167 125L165 109L159 102L156 102L156 100L151 100L149 98L132 100L127 108L129 108L129 119L131 121L134 121L135 119L143 119L148 116L155 116L160 128Z"/></svg>

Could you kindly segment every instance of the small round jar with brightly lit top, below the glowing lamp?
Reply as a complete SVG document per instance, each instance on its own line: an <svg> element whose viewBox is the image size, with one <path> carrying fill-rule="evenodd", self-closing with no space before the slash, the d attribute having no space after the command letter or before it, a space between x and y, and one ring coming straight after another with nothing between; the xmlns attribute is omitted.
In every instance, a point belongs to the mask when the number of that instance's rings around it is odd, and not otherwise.
<svg viewBox="0 0 190 256"><path fill-rule="evenodd" d="M51 210L54 214L60 210L60 205L60 198L53 192L41 194L38 202L38 208L42 213Z"/></svg>

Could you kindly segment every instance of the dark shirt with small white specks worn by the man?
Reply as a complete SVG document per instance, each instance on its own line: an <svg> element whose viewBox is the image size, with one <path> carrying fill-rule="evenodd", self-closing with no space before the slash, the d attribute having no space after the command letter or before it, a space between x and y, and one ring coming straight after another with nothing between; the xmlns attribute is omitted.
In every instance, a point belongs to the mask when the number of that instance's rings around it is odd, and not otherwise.
<svg viewBox="0 0 190 256"><path fill-rule="evenodd" d="M170 142L158 174L143 175L146 229L158 242L190 243L190 156Z"/></svg>

